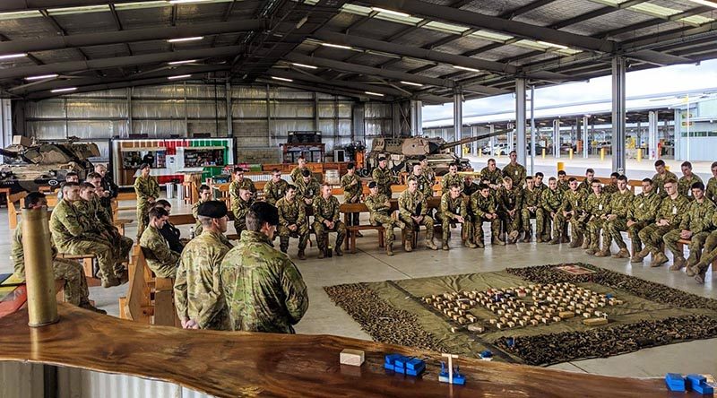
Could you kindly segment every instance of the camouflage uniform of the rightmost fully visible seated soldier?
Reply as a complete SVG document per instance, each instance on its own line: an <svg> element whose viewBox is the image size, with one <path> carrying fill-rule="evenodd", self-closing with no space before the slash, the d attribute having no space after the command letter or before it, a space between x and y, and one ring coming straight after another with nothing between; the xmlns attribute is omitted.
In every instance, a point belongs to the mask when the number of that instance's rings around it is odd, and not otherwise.
<svg viewBox="0 0 717 398"><path fill-rule="evenodd" d="M702 203L696 200L689 203L687 212L682 216L682 220L679 222L679 228L670 230L662 237L665 246L672 252L673 258L677 259L683 256L682 250L678 248L679 233L687 229L692 232L692 238L689 239L688 263L697 263L697 259L702 253L704 242L713 229L712 218L714 210L715 204L706 198L704 198Z"/></svg>

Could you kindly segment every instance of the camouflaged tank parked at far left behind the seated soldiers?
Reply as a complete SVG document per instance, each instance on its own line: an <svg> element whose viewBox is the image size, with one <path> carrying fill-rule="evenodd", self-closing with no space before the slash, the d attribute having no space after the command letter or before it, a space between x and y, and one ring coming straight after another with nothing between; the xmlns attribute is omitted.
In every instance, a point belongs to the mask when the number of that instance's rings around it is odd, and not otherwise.
<svg viewBox="0 0 717 398"><path fill-rule="evenodd" d="M94 168L89 158L99 157L95 143L76 143L72 139L57 143L30 142L13 137L13 145L0 149L0 187L11 194L37 191L39 186L59 186L74 171L84 179Z"/></svg>

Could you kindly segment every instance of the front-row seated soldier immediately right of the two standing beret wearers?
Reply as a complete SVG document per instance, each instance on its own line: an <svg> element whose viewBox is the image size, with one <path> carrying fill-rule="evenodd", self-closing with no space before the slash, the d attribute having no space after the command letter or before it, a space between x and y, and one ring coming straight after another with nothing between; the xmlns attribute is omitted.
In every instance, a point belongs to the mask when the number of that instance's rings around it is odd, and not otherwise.
<svg viewBox="0 0 717 398"><path fill-rule="evenodd" d="M297 187L289 185L286 195L276 203L279 210L279 247L289 250L289 238L298 238L298 259L306 260L304 250L308 241L307 207L297 199Z"/></svg>

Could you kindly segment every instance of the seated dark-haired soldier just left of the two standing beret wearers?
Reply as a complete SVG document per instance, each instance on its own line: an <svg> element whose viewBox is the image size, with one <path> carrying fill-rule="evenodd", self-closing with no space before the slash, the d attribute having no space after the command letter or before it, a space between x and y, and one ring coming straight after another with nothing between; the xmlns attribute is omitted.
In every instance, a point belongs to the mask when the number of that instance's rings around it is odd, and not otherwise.
<svg viewBox="0 0 717 398"><path fill-rule="evenodd" d="M150 223L142 233L140 247L151 271L160 278L174 278L177 276L177 264L180 254L171 250L167 239L160 233L164 223L169 219L169 213L155 207L150 210Z"/></svg>

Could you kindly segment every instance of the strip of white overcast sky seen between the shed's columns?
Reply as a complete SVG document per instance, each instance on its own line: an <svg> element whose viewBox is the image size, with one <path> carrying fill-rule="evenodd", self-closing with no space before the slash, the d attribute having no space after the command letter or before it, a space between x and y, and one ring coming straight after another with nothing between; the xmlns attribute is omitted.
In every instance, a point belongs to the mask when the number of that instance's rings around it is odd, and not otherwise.
<svg viewBox="0 0 717 398"><path fill-rule="evenodd" d="M674 65L626 75L626 96L659 94L663 92L688 91L717 87L717 60L704 61L701 65ZM535 107L565 105L593 99L610 99L610 76L592 79L590 82L566 83L535 90ZM453 104L423 107L423 120L453 117ZM505 112L515 108L513 94L484 99L471 99L463 103L463 117L487 112Z"/></svg>

